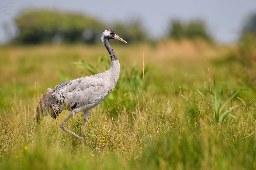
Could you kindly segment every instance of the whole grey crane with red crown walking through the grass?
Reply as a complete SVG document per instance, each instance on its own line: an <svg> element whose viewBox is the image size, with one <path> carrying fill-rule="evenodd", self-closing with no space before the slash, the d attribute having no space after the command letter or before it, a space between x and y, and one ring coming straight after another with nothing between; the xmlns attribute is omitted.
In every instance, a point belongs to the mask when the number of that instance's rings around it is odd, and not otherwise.
<svg viewBox="0 0 256 170"><path fill-rule="evenodd" d="M62 82L54 89L48 88L46 90L47 92L40 97L37 103L36 121L38 125L40 125L41 119L44 116L51 115L53 119L57 119L57 116L62 110L70 110L70 115L60 124L60 128L81 139L82 147L84 143L93 146L93 144L84 140L86 121L91 110L114 90L120 75L119 60L113 48L109 45L109 39L117 39L127 43L111 29L106 29L102 32L101 41L106 50L108 50L111 59L111 67L109 70L103 73ZM84 114L82 138L65 127L67 121L79 112L83 112Z"/></svg>

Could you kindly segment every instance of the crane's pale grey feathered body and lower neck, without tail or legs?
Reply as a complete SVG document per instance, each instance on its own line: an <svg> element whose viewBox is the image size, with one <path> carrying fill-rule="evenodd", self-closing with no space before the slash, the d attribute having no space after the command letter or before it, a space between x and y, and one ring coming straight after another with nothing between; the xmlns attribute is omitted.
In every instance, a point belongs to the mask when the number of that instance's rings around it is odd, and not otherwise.
<svg viewBox="0 0 256 170"><path fill-rule="evenodd" d="M119 60L112 61L110 69L106 72L77 78L64 82L55 87L53 96L56 96L56 108L62 110L75 110L75 113L91 110L102 102L111 93L120 75Z"/></svg>

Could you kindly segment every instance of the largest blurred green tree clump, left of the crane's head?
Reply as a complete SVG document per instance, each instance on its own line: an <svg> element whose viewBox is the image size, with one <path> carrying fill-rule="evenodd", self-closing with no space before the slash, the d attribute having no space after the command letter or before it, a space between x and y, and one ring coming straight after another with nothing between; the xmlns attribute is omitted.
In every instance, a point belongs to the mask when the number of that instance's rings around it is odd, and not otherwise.
<svg viewBox="0 0 256 170"><path fill-rule="evenodd" d="M22 44L94 43L96 33L105 29L104 24L83 15L43 10L23 12L15 23L19 28L16 41Z"/></svg>

